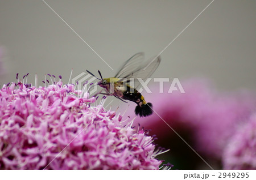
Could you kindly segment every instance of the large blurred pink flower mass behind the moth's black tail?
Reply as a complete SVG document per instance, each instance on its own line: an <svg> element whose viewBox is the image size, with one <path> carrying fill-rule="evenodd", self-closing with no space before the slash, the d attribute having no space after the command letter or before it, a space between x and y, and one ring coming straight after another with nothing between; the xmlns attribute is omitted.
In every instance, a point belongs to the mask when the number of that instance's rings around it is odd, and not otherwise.
<svg viewBox="0 0 256 180"><path fill-rule="evenodd" d="M169 87L164 88L164 93L159 93L159 87L150 88L152 93L142 93L147 102L152 102L155 113L147 118L136 117L134 125L140 123L151 129L159 139L166 140L175 135L166 121L178 133L189 132L193 142L190 145L197 151L220 159L237 126L245 123L246 118L255 111L255 94L220 93L203 79L187 80L181 85L185 93L167 93ZM129 108L129 115L131 111L133 109Z"/></svg>

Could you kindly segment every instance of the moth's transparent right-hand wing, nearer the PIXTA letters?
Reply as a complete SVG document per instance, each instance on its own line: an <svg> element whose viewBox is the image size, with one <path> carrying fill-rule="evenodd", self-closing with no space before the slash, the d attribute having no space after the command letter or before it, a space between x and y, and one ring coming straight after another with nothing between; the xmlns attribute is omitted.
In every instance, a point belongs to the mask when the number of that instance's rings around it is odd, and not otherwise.
<svg viewBox="0 0 256 180"><path fill-rule="evenodd" d="M152 57L146 63L143 63L143 65L141 65L134 71L131 71L130 74L127 75L125 78L120 77L120 81L125 82L131 87L138 88L139 85L141 85L141 82L139 82L138 78L141 78L143 82L145 82L146 79L155 72L156 68L158 68L160 61L160 56ZM131 79L133 79L134 82Z"/></svg>

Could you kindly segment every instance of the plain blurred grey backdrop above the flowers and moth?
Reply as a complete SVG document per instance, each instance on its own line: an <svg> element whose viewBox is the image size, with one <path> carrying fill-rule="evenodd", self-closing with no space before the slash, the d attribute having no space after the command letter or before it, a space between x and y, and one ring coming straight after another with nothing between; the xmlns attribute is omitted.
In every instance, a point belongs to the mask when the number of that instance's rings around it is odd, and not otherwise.
<svg viewBox="0 0 256 180"><path fill-rule="evenodd" d="M159 54L211 1L0 1L0 45L15 74L63 75L86 69L113 76L137 52ZM215 0L164 52L154 77L211 79L218 89L255 89L256 1Z"/></svg>

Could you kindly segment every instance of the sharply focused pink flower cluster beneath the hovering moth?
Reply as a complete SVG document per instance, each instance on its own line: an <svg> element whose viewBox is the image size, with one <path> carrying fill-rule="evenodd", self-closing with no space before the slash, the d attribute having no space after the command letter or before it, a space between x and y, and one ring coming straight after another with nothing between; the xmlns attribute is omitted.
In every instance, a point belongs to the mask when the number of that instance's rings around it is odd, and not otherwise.
<svg viewBox="0 0 256 180"><path fill-rule="evenodd" d="M61 81L0 89L0 169L159 169L153 138Z"/></svg>

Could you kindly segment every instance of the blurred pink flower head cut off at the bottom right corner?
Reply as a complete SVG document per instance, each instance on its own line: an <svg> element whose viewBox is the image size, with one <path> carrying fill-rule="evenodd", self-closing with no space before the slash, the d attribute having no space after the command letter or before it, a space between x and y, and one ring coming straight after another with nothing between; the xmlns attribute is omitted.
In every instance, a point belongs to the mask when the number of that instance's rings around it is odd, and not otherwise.
<svg viewBox="0 0 256 180"><path fill-rule="evenodd" d="M224 169L256 169L256 114L233 135L222 162Z"/></svg>

